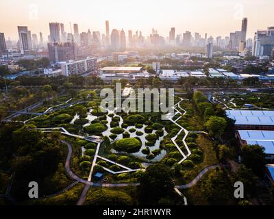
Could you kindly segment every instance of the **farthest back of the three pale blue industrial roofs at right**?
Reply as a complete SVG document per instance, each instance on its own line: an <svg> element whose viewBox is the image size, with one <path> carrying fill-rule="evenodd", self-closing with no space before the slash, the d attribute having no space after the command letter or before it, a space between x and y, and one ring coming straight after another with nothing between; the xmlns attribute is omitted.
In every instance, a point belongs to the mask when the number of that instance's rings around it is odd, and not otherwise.
<svg viewBox="0 0 274 219"><path fill-rule="evenodd" d="M235 125L274 125L274 111L226 110L226 113L236 120Z"/></svg>

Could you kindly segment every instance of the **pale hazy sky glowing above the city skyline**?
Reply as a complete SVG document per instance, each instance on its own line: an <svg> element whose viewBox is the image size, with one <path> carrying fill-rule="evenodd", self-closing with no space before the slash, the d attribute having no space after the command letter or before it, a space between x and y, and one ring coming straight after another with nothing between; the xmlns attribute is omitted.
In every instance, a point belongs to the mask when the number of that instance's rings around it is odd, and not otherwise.
<svg viewBox="0 0 274 219"><path fill-rule="evenodd" d="M78 23L79 31L105 33L110 29L141 30L143 35L158 29L168 36L171 27L176 34L188 30L208 36L229 36L240 30L247 17L247 36L257 29L274 26L273 0L0 0L0 32L5 38L18 38L17 26L27 25L32 34L49 34L49 22ZM127 32L126 32L127 33Z"/></svg>

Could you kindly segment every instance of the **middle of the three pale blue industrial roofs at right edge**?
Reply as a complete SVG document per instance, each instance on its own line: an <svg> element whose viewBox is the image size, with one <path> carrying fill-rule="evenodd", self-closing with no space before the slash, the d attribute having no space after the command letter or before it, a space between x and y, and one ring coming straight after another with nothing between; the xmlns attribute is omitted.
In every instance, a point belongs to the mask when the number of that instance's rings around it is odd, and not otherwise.
<svg viewBox="0 0 274 219"><path fill-rule="evenodd" d="M238 133L247 144L259 144L266 154L274 154L274 131L238 130Z"/></svg>

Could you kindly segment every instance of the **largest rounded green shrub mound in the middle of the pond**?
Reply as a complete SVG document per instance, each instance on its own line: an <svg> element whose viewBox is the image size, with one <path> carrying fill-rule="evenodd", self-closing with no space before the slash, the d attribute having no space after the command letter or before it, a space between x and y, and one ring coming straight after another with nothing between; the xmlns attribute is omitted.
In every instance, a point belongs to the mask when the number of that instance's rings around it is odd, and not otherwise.
<svg viewBox="0 0 274 219"><path fill-rule="evenodd" d="M142 142L136 138L125 138L116 141L114 149L116 151L125 151L127 153L136 153L142 147Z"/></svg>

